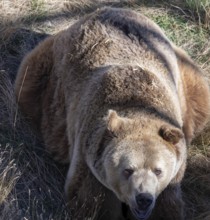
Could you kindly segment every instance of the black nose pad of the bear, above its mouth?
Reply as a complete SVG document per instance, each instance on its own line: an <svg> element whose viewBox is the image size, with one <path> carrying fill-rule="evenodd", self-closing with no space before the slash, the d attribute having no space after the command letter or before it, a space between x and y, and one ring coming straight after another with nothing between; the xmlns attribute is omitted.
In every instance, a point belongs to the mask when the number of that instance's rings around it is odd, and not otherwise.
<svg viewBox="0 0 210 220"><path fill-rule="evenodd" d="M136 203L140 210L147 210L153 202L153 196L149 193L140 193L136 196Z"/></svg>

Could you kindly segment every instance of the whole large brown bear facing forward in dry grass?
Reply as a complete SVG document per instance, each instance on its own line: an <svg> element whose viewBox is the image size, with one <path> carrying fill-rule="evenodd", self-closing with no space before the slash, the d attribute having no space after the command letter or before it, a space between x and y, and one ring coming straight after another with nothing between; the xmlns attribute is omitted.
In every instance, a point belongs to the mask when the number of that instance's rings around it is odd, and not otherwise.
<svg viewBox="0 0 210 220"><path fill-rule="evenodd" d="M209 89L147 17L102 8L81 18L24 58L15 93L69 163L72 219L184 218L186 146L208 120Z"/></svg>

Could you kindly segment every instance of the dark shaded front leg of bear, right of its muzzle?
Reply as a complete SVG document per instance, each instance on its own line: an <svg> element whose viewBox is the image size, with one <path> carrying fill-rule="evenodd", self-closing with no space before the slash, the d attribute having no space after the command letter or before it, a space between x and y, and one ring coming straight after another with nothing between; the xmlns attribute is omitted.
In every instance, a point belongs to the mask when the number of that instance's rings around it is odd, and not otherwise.
<svg viewBox="0 0 210 220"><path fill-rule="evenodd" d="M184 202L180 184L169 185L157 198L149 220L183 220Z"/></svg>

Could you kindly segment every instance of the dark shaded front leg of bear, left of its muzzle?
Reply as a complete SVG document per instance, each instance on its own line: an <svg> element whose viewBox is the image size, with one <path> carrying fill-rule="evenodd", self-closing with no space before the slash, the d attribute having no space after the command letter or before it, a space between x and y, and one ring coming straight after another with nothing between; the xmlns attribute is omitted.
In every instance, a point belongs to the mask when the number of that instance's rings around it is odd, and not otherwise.
<svg viewBox="0 0 210 220"><path fill-rule="evenodd" d="M91 173L87 165L66 180L66 196L74 220L124 220L121 202ZM70 168L71 169L71 168ZM69 171L71 172L71 171Z"/></svg>

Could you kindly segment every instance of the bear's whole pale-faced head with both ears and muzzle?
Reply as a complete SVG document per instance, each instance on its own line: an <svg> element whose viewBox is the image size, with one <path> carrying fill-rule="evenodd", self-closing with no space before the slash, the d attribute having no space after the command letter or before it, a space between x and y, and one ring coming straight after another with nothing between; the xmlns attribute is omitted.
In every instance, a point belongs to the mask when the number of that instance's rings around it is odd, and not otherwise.
<svg viewBox="0 0 210 220"><path fill-rule="evenodd" d="M186 162L182 131L161 120L121 117L109 110L97 179L126 203L138 220L147 219L158 195L176 182Z"/></svg>

